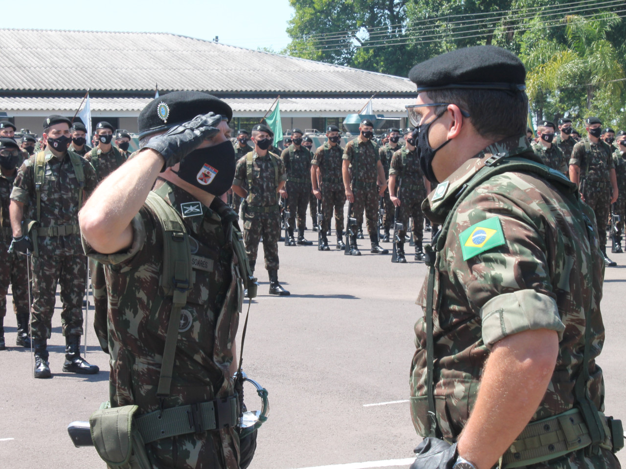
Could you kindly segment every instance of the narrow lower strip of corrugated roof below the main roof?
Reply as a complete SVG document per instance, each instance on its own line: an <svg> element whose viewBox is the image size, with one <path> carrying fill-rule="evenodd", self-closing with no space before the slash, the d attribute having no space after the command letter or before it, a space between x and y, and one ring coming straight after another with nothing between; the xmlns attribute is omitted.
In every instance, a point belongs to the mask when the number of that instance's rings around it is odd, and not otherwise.
<svg viewBox="0 0 626 469"><path fill-rule="evenodd" d="M51 111L62 114L78 109L82 98L9 98L0 96L0 111ZM130 111L138 114L150 98L90 98L91 111ZM237 113L264 114L274 103L273 98L227 98ZM408 98L374 98L372 109L377 114L404 113ZM280 111L289 113L337 112L356 113L367 102L363 98L280 98Z"/></svg>

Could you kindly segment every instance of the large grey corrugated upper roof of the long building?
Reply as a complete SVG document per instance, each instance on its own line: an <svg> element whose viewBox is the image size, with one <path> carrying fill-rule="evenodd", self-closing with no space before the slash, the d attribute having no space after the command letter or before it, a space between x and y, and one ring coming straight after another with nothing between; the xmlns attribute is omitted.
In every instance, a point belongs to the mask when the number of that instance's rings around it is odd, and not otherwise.
<svg viewBox="0 0 626 469"><path fill-rule="evenodd" d="M168 33L0 29L0 44L0 92L415 93L405 78Z"/></svg>

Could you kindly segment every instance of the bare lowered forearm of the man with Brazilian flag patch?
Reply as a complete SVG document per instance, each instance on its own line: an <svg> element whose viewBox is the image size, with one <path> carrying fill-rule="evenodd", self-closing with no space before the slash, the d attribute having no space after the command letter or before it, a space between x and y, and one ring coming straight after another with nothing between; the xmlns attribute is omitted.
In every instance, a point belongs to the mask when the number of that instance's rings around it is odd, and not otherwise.
<svg viewBox="0 0 626 469"><path fill-rule="evenodd" d="M498 461L541 403L557 353L558 335L546 329L520 332L496 343L476 405L458 440L459 455L478 469Z"/></svg>

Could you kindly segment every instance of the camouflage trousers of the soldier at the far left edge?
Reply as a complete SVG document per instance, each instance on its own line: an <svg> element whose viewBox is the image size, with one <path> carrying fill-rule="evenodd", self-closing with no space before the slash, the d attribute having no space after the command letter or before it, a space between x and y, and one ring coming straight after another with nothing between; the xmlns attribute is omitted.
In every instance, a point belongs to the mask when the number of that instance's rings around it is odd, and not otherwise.
<svg viewBox="0 0 626 469"><path fill-rule="evenodd" d="M28 315L28 258L18 253L7 253L9 245L0 240L0 250L4 254L0 261L0 318L6 316L6 295L11 285L13 291L13 312Z"/></svg>

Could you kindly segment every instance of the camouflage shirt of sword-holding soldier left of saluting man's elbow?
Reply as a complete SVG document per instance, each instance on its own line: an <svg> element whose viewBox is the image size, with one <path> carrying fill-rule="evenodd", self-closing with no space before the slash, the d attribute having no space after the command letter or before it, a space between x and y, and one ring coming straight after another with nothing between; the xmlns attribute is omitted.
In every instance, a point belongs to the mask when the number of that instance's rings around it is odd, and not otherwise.
<svg viewBox="0 0 626 469"><path fill-rule="evenodd" d="M74 166L68 154L59 159L46 149L44 163L44 182L41 184L41 219L39 226L76 225L78 226L78 195L83 190L78 184ZM37 219L37 196L34 184L34 165L37 154L24 161L13 183L11 200L24 204L24 218ZM91 195L98 185L93 166L80 157L85 174L85 194L83 201ZM82 255L80 235L39 236L37 239L40 256Z"/></svg>

